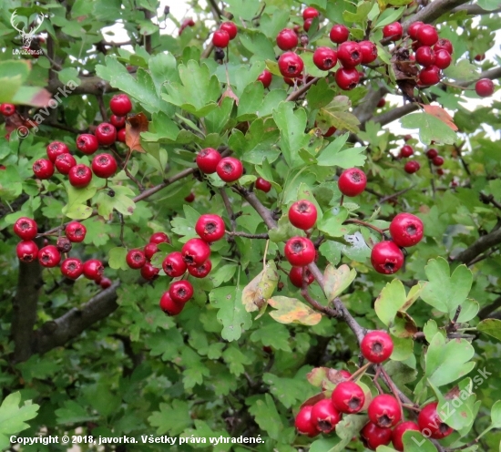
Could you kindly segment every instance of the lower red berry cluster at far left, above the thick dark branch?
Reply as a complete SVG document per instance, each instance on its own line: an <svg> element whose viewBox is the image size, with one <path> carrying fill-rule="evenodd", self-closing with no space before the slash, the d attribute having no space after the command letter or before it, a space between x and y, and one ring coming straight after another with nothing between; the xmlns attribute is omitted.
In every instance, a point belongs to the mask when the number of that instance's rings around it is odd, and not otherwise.
<svg viewBox="0 0 501 452"><path fill-rule="evenodd" d="M40 265L47 268L53 268L61 264L61 273L70 280L76 280L82 274L89 280L99 284L101 288L107 289L111 285L108 278L103 277L105 267L101 261L97 259L89 259L82 262L75 257L66 257L61 262L61 253L70 252L72 243L79 243L86 238L86 227L78 221L71 221L66 224L65 237L58 237L56 245L46 244L38 250L38 246L34 239L38 235L38 225L36 221L21 217L14 224L14 232L21 239L17 243L15 252L17 258L22 262L35 262L38 260Z"/></svg>

